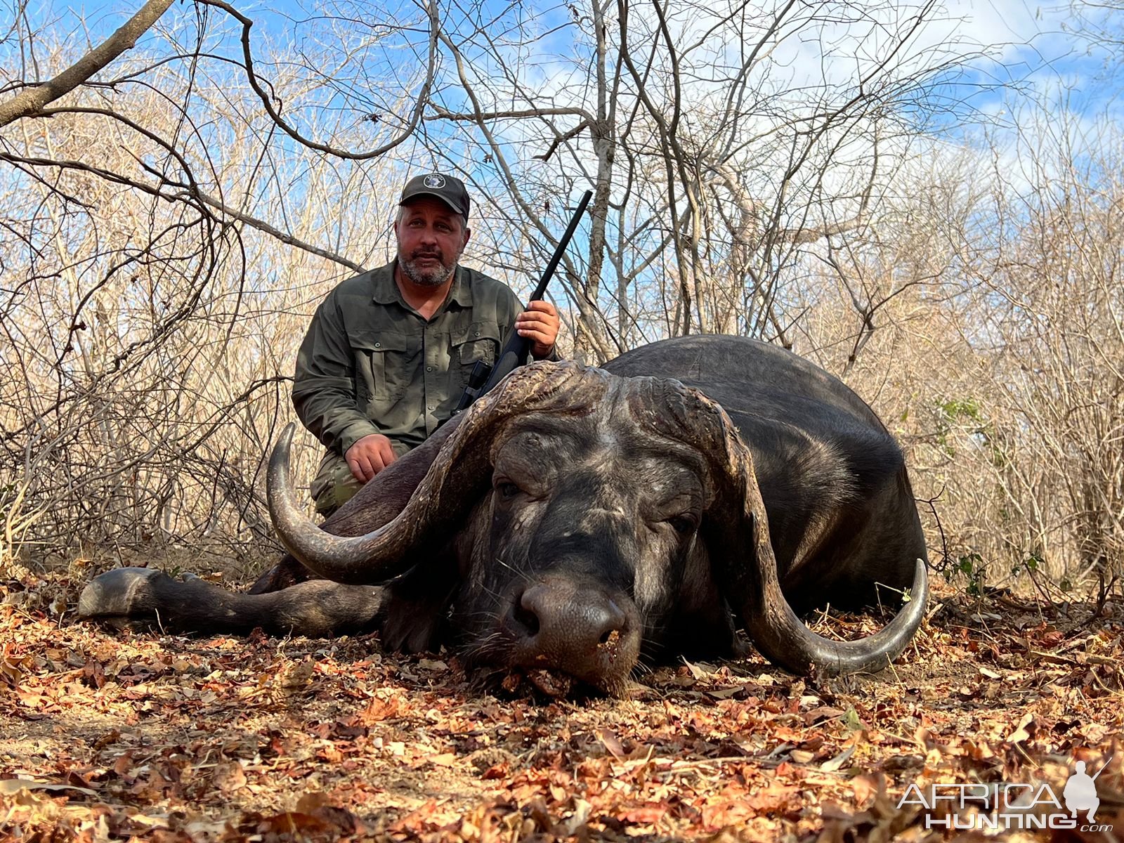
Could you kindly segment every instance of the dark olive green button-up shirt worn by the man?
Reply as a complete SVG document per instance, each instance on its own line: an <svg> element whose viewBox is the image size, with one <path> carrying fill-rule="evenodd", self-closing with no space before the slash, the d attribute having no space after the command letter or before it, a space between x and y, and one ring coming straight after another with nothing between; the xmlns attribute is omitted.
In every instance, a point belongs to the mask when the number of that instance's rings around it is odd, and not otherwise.
<svg viewBox="0 0 1124 843"><path fill-rule="evenodd" d="M477 361L496 362L522 311L507 285L463 266L428 320L402 299L393 263L348 279L300 345L297 415L341 454L372 433L416 447L453 415Z"/></svg>

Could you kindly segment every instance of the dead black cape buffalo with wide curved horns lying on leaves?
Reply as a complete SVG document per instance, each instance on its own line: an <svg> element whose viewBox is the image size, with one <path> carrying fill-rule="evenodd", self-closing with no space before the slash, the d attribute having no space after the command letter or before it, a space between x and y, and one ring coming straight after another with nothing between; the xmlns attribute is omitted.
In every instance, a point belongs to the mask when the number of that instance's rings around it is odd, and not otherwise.
<svg viewBox="0 0 1124 843"><path fill-rule="evenodd" d="M455 647L547 694L623 691L637 663L742 652L795 673L880 670L921 625L925 543L901 453L847 387L738 337L669 339L602 369L523 368L321 527L298 508L287 428L270 509L291 556L251 593L146 569L91 581L84 617L165 629ZM296 561L327 579L291 582ZM288 579L285 572L288 571ZM265 583L264 586L262 583ZM877 634L798 613L912 597Z"/></svg>

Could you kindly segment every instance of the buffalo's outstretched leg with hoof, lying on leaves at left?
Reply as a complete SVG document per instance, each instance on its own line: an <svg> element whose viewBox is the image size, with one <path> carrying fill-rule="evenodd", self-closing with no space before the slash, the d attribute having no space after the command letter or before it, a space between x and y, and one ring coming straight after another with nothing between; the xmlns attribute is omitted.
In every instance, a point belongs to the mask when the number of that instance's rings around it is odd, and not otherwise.
<svg viewBox="0 0 1124 843"><path fill-rule="evenodd" d="M330 637L373 632L382 600L377 586L309 580L264 595L245 595L200 579L180 581L148 568L118 568L96 577L79 598L79 617L178 633L246 633Z"/></svg>

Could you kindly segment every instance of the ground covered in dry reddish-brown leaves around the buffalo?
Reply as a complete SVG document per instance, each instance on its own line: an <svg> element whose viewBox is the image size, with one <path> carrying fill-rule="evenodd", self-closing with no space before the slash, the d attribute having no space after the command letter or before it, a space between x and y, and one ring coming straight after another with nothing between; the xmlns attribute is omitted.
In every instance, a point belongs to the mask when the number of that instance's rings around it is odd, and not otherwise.
<svg viewBox="0 0 1124 843"><path fill-rule="evenodd" d="M386 655L373 636L115 633L74 620L82 580L0 581L0 840L1124 837L1112 607L939 591L877 677L681 663L631 699L544 701L473 689L448 654ZM1060 799L1078 760L1090 774L1107 761L1096 822L1117 831L1005 821L985 836L945 827L949 801L922 804L954 783L1046 783ZM953 813L978 823L979 808Z"/></svg>

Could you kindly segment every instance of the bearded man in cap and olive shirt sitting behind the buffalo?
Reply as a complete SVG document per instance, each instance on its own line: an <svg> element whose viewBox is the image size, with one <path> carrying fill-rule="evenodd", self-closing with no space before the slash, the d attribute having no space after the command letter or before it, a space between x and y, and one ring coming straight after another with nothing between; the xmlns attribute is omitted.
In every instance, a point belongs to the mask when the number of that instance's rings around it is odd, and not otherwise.
<svg viewBox="0 0 1124 843"><path fill-rule="evenodd" d="M344 281L312 317L292 402L328 450L310 487L321 515L448 420L473 365L495 363L511 330L535 359L555 356L553 305L524 311L505 284L457 264L468 219L459 179L410 179L395 220L398 256Z"/></svg>

